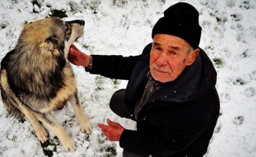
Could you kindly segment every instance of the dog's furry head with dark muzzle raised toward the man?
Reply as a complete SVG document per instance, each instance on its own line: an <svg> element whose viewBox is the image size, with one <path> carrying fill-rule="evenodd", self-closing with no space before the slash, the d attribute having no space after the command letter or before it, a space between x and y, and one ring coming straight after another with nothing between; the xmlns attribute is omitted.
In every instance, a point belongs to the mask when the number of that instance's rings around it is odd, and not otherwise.
<svg viewBox="0 0 256 157"><path fill-rule="evenodd" d="M30 55L45 57L64 56L68 58L69 47L81 37L84 20L64 21L57 17L48 17L25 24L16 49L24 49Z"/></svg>

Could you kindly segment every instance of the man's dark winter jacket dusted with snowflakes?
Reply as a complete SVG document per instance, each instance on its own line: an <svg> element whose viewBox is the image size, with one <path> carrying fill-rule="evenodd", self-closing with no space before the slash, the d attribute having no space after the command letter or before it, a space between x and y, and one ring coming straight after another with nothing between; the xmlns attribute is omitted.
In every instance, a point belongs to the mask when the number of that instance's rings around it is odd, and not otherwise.
<svg viewBox="0 0 256 157"><path fill-rule="evenodd" d="M146 46L136 57L92 56L90 73L129 80L125 103L131 112L148 81L151 46ZM172 157L203 156L207 152L220 103L214 66L203 49L200 49L198 58L199 67L188 66L174 82L166 83L148 98L138 115L137 131L124 130L120 138L122 148L144 155ZM194 86L193 77L196 75L200 79ZM180 96L184 97L190 88L193 88L193 93L181 99Z"/></svg>

